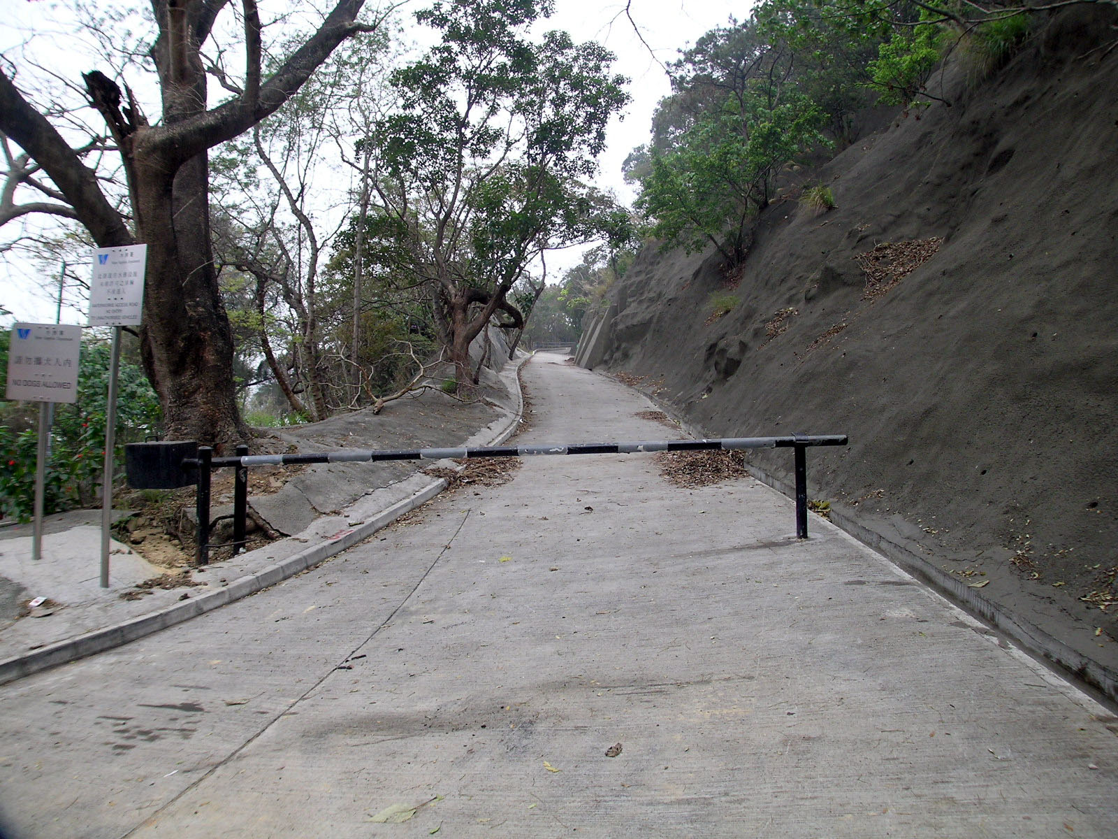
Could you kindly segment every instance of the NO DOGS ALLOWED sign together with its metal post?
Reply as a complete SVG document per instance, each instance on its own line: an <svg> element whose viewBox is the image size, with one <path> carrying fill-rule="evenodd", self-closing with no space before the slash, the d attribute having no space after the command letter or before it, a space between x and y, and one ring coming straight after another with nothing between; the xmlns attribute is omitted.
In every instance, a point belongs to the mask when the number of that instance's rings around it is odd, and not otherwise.
<svg viewBox="0 0 1118 839"><path fill-rule="evenodd" d="M42 508L46 496L48 405L77 402L82 327L17 323L8 345L9 399L39 403L39 445L35 468L35 529L31 557L42 555Z"/></svg>

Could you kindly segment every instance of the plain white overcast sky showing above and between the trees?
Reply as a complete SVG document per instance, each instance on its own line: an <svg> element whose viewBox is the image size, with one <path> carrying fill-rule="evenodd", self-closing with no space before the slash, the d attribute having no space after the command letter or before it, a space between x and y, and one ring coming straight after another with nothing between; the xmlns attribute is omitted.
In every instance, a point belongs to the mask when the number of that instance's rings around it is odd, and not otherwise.
<svg viewBox="0 0 1118 839"><path fill-rule="evenodd" d="M275 4L274 0L260 0L265 9ZM415 2L409 8L417 9L423 4ZM103 3L103 8L120 6L124 4ZM624 0L556 0L556 13L541 23L542 29L566 29L577 41L598 41L617 55L615 72L632 79L632 102L625 110L624 119L615 119L610 124L608 147L600 159L601 171L597 182L601 188L613 189L622 200L632 201L635 196L622 178L622 162L635 147L647 142L653 110L671 91L656 59L664 64L672 62L679 49L693 44L709 29L724 25L731 15L739 20L746 18L751 4L748 0L632 0L633 20L652 48L652 54L633 31L625 16ZM46 17L45 12L55 8L57 3L50 0L0 0L0 11L3 12L0 49L8 50L28 30L41 32L39 21ZM410 13L406 13L405 19L413 21ZM64 39L56 43L60 46L67 44ZM70 57L64 64L74 60ZM97 63L92 59L75 63L72 70L74 79L80 83L79 72L95 66ZM7 238L9 232L4 234ZM0 303L12 312L12 318L4 320L53 323L56 301L49 291L41 287L41 284L51 282L49 277L37 275L36 270L25 261L8 256L0 258L4 260L0 264ZM548 255L548 281L558 282L562 272L580 258L580 248L551 252ZM84 323L85 315L64 309L63 321Z"/></svg>

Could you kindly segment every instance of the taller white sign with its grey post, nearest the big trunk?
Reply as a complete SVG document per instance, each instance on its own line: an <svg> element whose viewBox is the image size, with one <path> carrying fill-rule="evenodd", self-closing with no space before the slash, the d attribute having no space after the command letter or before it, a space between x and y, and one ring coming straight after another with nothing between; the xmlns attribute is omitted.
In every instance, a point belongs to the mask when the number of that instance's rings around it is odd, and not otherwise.
<svg viewBox="0 0 1118 839"><path fill-rule="evenodd" d="M89 282L89 326L113 327L105 406L105 471L101 484L101 587L108 587L108 550L113 526L113 449L116 445L116 379L121 361L121 327L143 320L146 245L100 247L93 252Z"/></svg>

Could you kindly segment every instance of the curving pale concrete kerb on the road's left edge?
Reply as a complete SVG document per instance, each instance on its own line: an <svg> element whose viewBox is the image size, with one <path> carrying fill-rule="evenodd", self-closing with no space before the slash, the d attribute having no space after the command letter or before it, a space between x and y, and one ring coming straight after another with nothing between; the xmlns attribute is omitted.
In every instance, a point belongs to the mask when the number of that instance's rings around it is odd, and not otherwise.
<svg viewBox="0 0 1118 839"><path fill-rule="evenodd" d="M475 445L500 445L512 436L513 432L517 430L517 426L520 424L524 414L524 396L520 387L519 373L520 368L530 358L531 356L525 356L515 365L511 366L512 375L509 378L511 380L513 393L517 396L515 412L512 414L509 422L501 426L495 435L491 436L489 440L476 442ZM484 430L481 433L484 433ZM473 437L471 437L471 440L473 440ZM463 466L454 463L454 461L437 461L435 465L446 466L457 471L463 469ZM300 553L288 556L277 563L268 565L258 572L238 577L222 588L208 592L191 600L179 601L171 606L149 612L148 614L123 621L122 623L106 629L95 630L93 632L87 632L84 635L48 644L41 649L32 650L23 656L15 656L12 658L4 659L3 661L0 661L0 685L22 679L26 676L41 672L42 670L57 667L58 664L65 664L87 656L104 652L105 650L111 650L115 647L122 647L126 643L131 643L132 641L136 641L141 638L159 632L160 630L173 626L177 623L188 621L191 618L197 618L206 614L207 612L212 612L215 609L220 609L221 606L233 603L234 601L238 601L241 597L256 594L256 592L268 588L276 583L281 583L288 577L299 574L300 572L314 567L330 557L353 547L359 541L363 541L377 532L377 530L380 530L381 528L396 521L396 519L400 518L400 516L406 512L410 512L415 508L433 499L446 489L446 486L447 482L444 479L436 478L421 489L409 494L407 498L372 515L371 518L362 521L360 525L341 530L334 536L326 537L324 541L306 548L305 550L301 550ZM354 507L359 505L360 502L354 505ZM337 520L342 525L349 520L348 516L333 518L337 518Z"/></svg>

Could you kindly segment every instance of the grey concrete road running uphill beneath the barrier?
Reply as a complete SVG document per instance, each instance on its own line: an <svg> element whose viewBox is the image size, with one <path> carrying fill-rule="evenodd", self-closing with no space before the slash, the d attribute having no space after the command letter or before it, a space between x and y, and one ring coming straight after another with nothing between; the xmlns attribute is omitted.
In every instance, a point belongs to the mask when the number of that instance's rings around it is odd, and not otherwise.
<svg viewBox="0 0 1118 839"><path fill-rule="evenodd" d="M521 441L675 436L557 357L524 377ZM528 459L0 688L0 832L1114 837L1118 720L811 526L797 543L792 503L751 479Z"/></svg>

